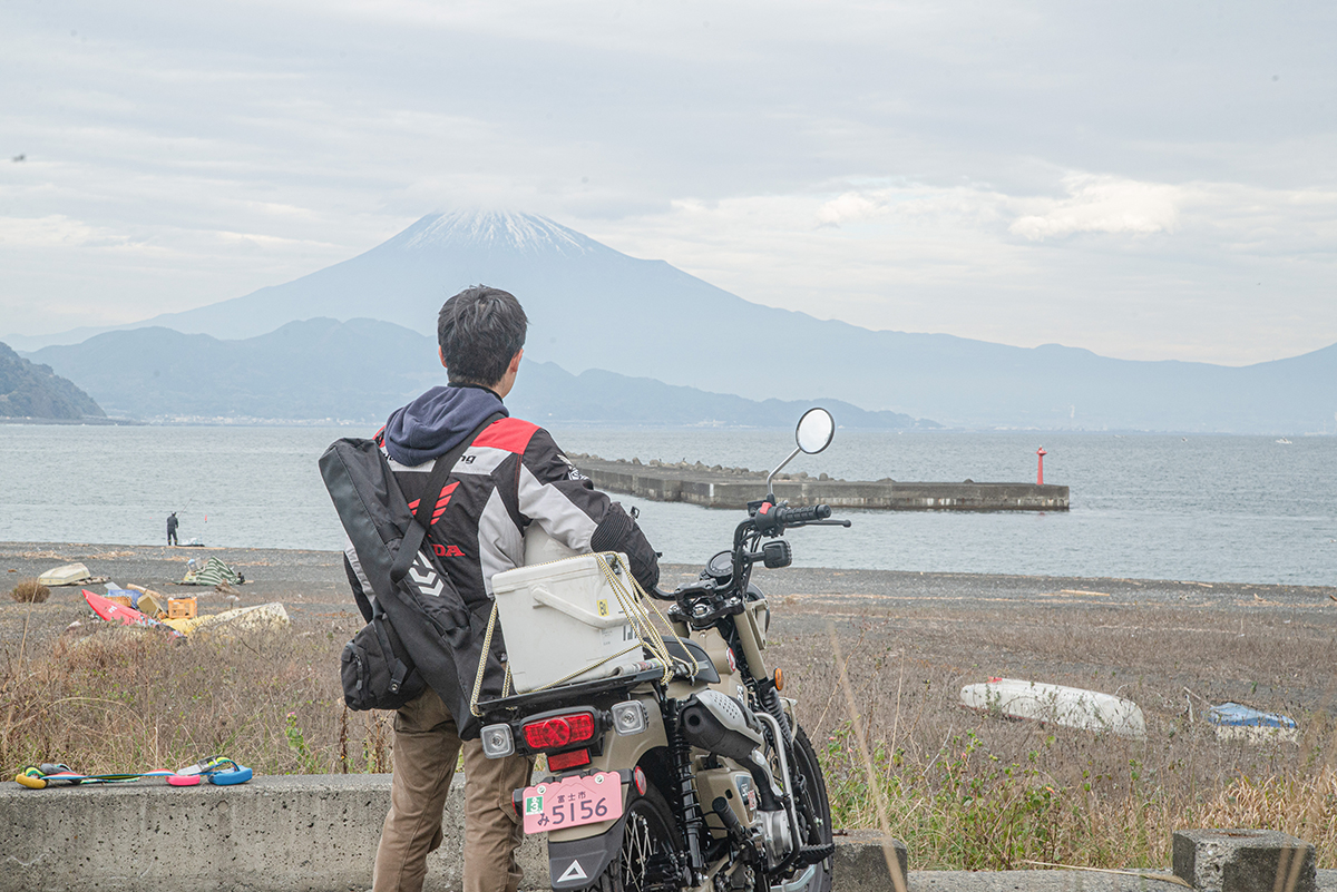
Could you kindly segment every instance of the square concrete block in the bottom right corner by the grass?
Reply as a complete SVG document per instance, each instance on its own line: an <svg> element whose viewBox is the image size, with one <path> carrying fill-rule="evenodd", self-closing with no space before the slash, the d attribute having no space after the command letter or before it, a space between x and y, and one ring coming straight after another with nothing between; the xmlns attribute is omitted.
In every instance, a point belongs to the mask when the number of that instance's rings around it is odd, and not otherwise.
<svg viewBox="0 0 1337 892"><path fill-rule="evenodd" d="M1174 873L1203 892L1314 892L1314 847L1289 833L1175 831ZM1297 864L1298 859L1298 864Z"/></svg>

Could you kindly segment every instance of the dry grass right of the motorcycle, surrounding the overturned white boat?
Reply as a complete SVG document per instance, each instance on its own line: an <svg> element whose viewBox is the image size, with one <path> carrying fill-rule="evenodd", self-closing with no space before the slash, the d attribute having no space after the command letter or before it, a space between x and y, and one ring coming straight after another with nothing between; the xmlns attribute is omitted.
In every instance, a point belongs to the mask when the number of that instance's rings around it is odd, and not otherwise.
<svg viewBox="0 0 1337 892"><path fill-rule="evenodd" d="M1254 704L1285 706L1305 729L1298 746L1221 742L1198 714L1205 701L1185 693L1186 677L1206 668L1185 662L1197 658L1211 664L1217 678L1223 668L1229 677L1231 653L1194 652L1197 645L1182 632L1167 636L1165 646L1142 636L1136 646L1120 648L1111 642L1126 637L1119 629L1111 636L1034 621L1029 626L985 629L963 645L959 632L908 634L892 624L866 622L846 650L889 829L905 840L917 865L1017 869L1032 860L1163 868L1175 829L1253 827L1314 843L1320 867L1337 867L1337 726L1326 702ZM1118 689L1142 705L1147 740L999 721L961 709L960 688L993 674L963 666L975 656L963 648L987 645L995 633L1005 634L1011 654L991 654L989 665L1016 677ZM1318 684L1306 673L1330 673L1333 648L1330 638L1313 637L1305 646L1289 633L1238 646L1257 662L1253 669L1290 674L1292 689ZM876 827L876 796L829 642L805 636L775 650L822 756L837 827ZM1203 676L1199 686L1209 686Z"/></svg>

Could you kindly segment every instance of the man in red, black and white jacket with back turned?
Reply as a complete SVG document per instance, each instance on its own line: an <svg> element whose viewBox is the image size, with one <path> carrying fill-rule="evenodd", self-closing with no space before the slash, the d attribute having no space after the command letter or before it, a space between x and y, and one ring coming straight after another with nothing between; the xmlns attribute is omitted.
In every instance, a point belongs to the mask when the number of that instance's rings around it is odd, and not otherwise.
<svg viewBox="0 0 1337 892"><path fill-rule="evenodd" d="M509 415L501 401L515 385L527 327L520 302L497 288L467 288L441 307L437 342L449 383L396 410L376 437L410 505L439 457L493 413ZM464 600L477 602L492 597L493 574L524 564L529 523L576 551L626 553L647 590L659 581L655 551L622 506L594 489L548 431L507 417L485 427L455 465L425 542ZM369 592L357 576L350 574L354 585ZM422 888L427 856L441 845L441 811L460 748L456 720L432 688L396 712L390 812L373 892ZM511 792L529 783L533 765L524 756L487 758L477 740L463 748L464 892L516 892L521 824Z"/></svg>

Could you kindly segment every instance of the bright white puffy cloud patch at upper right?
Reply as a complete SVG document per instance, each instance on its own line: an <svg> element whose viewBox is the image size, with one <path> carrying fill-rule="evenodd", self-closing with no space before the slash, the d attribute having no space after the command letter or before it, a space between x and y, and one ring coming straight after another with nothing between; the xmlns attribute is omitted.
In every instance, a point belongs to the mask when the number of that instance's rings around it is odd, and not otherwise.
<svg viewBox="0 0 1337 892"><path fill-rule="evenodd" d="M1185 198L1175 186L1096 174L1070 174L1063 188L1066 199L1016 202L1034 211L1013 220L1008 231L1032 242L1075 232L1173 232Z"/></svg>

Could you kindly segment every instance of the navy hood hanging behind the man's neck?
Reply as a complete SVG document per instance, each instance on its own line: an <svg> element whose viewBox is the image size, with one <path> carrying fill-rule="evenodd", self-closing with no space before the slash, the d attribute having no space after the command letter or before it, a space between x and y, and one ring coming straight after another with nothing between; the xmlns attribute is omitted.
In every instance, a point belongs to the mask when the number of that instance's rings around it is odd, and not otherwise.
<svg viewBox="0 0 1337 892"><path fill-rule="evenodd" d="M431 462L455 449L492 413L509 417L483 387L432 387L385 422L385 451L400 465Z"/></svg>

